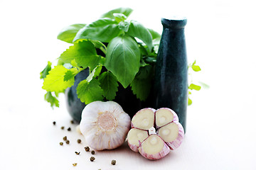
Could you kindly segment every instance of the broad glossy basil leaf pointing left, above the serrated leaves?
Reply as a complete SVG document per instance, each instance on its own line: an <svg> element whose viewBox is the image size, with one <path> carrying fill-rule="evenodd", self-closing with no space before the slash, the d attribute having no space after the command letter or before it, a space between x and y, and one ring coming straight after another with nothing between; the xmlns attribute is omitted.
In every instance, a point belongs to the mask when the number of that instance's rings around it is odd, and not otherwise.
<svg viewBox="0 0 256 170"><path fill-rule="evenodd" d="M110 18L101 18L80 29L77 35L75 35L73 42L80 39L110 42L110 40L119 35L120 32L121 30L118 27L117 21Z"/></svg>

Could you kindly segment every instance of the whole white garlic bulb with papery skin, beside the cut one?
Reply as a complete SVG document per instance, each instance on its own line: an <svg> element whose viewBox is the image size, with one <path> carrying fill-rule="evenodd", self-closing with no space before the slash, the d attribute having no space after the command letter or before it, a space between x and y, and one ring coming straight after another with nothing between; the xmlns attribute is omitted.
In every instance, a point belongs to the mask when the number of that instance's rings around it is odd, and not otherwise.
<svg viewBox="0 0 256 170"><path fill-rule="evenodd" d="M93 149L114 149L122 145L130 125L131 118L118 103L94 101L82 111L80 131Z"/></svg>

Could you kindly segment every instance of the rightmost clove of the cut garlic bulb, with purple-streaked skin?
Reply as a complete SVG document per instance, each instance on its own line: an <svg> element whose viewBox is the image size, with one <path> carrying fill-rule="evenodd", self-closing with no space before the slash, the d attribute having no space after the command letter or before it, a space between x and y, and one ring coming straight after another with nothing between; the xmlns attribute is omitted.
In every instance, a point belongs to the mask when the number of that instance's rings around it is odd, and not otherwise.
<svg viewBox="0 0 256 170"><path fill-rule="evenodd" d="M167 145L174 150L178 148L184 138L184 129L181 123L172 122L164 125L158 130L159 136L166 142Z"/></svg>

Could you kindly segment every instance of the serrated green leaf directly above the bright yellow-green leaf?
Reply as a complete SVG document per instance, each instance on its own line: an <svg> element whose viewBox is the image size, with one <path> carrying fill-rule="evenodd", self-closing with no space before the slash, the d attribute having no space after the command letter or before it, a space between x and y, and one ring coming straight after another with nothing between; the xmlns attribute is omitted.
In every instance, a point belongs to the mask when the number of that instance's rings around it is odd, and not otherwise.
<svg viewBox="0 0 256 170"><path fill-rule="evenodd" d="M80 41L69 47L60 55L63 62L71 63L75 60L78 66L86 68L95 68L100 62L100 56L97 55L95 46L89 40Z"/></svg>

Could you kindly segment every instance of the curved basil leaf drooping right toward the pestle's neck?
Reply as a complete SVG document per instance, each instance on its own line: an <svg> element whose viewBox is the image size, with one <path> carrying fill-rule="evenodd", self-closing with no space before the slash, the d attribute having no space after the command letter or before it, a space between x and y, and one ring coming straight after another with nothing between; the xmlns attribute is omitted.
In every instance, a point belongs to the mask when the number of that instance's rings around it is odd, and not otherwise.
<svg viewBox="0 0 256 170"><path fill-rule="evenodd" d="M142 40L148 47L149 50L153 47L152 35L147 28L137 21L131 21L129 30L127 32L132 37L137 37Z"/></svg>

